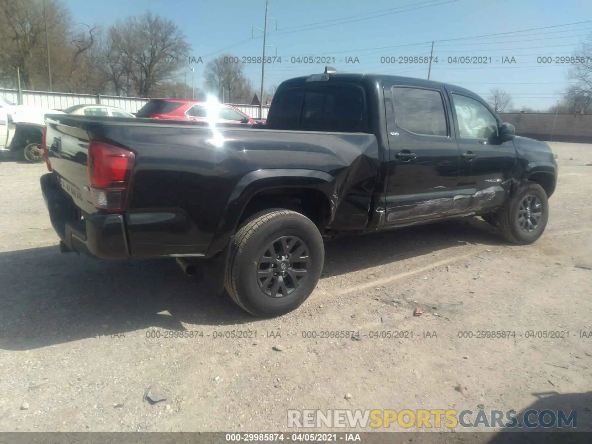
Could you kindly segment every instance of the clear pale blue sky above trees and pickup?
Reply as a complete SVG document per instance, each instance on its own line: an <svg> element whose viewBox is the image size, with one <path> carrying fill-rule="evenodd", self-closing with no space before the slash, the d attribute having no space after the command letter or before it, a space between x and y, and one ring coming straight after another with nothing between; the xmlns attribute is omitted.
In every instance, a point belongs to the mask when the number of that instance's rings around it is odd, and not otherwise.
<svg viewBox="0 0 592 444"><path fill-rule="evenodd" d="M204 60L204 65L192 65L196 86L203 81L205 63L222 53L262 54L262 33L255 30L255 38L251 35L252 27L263 28L265 0L65 3L73 19L85 24L107 27L147 10L175 21L191 44L192 54ZM464 86L485 98L491 88L501 88L510 93L517 107L535 109L554 104L569 84L569 65L538 63L538 57L571 56L585 36L592 34L590 0L271 0L269 17L267 44L273 46L266 53L277 53L282 63L265 66L266 89L294 76L323 71L324 64L297 63L296 59L292 63L292 57L298 56L330 57L330 65L342 72L427 78L427 64L387 64L381 63L381 57L395 57L396 62L398 57L427 57L430 42L435 41L433 55L438 63L432 64L431 79ZM500 33L509 34L480 37ZM454 57L460 62L458 57L463 56L491 57L491 64L453 62ZM345 63L355 62L356 57L359 63ZM503 57L514 57L516 63L501 63ZM259 90L261 65L243 66Z"/></svg>

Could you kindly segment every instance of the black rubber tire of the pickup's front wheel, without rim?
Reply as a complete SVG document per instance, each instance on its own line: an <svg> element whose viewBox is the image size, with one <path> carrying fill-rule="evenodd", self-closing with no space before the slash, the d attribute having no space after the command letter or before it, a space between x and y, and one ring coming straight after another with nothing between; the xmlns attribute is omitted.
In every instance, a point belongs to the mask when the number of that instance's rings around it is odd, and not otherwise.
<svg viewBox="0 0 592 444"><path fill-rule="evenodd" d="M540 202L540 218L536 227L532 231L525 231L520 226L519 210L520 204L525 198L535 197ZM522 186L506 207L501 208L496 213L496 222L498 231L501 236L511 243L515 244L530 244L536 242L542 236L547 221L549 220L549 201L545 190L535 182L526 182Z"/></svg>

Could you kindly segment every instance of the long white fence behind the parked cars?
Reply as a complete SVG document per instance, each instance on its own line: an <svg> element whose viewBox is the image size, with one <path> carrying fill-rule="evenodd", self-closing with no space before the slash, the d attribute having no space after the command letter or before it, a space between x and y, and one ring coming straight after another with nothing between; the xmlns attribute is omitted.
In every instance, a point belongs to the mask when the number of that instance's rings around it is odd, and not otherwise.
<svg viewBox="0 0 592 444"><path fill-rule="evenodd" d="M0 97L8 99L12 103L18 104L17 89L0 89ZM63 111L73 105L82 104L100 104L118 107L128 112L137 112L147 99L139 97L119 97L112 95L92 95L92 94L71 94L68 92L47 92L47 91L22 91L22 105L31 105L34 107L50 108L52 110ZM267 118L269 107L263 105L263 116L259 117L258 105L229 104L238 108L244 114L252 118Z"/></svg>

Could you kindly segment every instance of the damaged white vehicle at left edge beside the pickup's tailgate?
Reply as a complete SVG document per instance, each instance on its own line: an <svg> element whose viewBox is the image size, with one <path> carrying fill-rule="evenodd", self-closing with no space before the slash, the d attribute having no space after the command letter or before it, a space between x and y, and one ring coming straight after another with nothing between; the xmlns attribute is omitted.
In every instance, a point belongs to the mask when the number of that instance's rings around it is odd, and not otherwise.
<svg viewBox="0 0 592 444"><path fill-rule="evenodd" d="M41 139L46 114L65 114L50 108L15 105L0 97L0 151L17 152L30 162L43 161Z"/></svg>

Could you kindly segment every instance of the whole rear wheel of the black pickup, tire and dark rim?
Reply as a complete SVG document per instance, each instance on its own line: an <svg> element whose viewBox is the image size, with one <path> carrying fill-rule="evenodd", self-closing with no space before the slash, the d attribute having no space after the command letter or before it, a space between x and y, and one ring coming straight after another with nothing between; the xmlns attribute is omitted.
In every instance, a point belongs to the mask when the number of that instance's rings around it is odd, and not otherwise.
<svg viewBox="0 0 592 444"><path fill-rule="evenodd" d="M323 238L310 219L296 211L265 210L233 236L226 290L255 316L281 316L307 300L323 262Z"/></svg>

